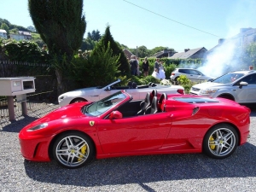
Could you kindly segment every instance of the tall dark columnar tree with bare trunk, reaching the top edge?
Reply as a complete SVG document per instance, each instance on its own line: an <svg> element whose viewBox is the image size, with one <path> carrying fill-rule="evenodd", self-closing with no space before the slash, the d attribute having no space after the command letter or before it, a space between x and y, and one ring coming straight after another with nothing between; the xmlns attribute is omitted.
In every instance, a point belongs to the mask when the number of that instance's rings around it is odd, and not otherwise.
<svg viewBox="0 0 256 192"><path fill-rule="evenodd" d="M86 22L83 0L28 0L28 9L40 37L55 58L58 92L66 90L63 82L65 65L82 44Z"/></svg>

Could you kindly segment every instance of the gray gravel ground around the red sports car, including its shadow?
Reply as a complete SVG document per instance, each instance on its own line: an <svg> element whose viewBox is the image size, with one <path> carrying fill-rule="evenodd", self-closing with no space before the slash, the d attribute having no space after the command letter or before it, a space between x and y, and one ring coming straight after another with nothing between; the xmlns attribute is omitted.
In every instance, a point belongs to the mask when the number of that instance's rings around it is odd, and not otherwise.
<svg viewBox="0 0 256 192"><path fill-rule="evenodd" d="M68 170L24 160L20 129L57 105L42 104L0 131L0 191L256 191L256 110L251 138L224 160L204 154L165 154L95 160Z"/></svg>

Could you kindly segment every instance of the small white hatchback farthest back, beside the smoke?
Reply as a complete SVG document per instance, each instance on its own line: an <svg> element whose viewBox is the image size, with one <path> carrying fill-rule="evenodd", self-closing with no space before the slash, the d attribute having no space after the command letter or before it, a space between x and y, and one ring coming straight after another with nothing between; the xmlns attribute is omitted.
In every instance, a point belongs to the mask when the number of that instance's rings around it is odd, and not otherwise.
<svg viewBox="0 0 256 192"><path fill-rule="evenodd" d="M193 68L176 68L170 78L172 81L177 81L179 76L185 75L187 78L192 82L202 82L202 81L208 81L213 80L214 78L209 77L201 73L200 71L193 69Z"/></svg>

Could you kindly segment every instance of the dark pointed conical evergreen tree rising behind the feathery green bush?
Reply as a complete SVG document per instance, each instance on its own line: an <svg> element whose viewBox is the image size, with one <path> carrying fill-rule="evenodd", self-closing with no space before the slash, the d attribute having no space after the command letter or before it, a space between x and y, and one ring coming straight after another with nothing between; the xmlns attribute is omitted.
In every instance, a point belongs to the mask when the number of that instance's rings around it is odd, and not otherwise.
<svg viewBox="0 0 256 192"><path fill-rule="evenodd" d="M124 51L119 47L118 44L115 43L115 41L113 40L113 37L110 33L110 26L107 26L105 34L102 36L101 40L99 41L98 44L96 44L97 46L104 46L105 48L108 48L108 42L110 43L110 48L113 50L113 55L117 55L119 56L119 71L120 71L120 75L122 76L130 76L131 71L130 71L130 66L129 63L126 59L125 53Z"/></svg>

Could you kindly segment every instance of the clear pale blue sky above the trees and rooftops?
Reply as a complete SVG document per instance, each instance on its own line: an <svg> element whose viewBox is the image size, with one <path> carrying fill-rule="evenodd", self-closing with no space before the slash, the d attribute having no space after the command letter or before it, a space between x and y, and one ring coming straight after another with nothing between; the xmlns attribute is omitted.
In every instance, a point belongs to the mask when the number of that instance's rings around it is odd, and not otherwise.
<svg viewBox="0 0 256 192"><path fill-rule="evenodd" d="M86 31L105 32L129 48L212 49L219 38L256 28L255 0L84 0ZM1 1L0 18L32 26L26 0Z"/></svg>

